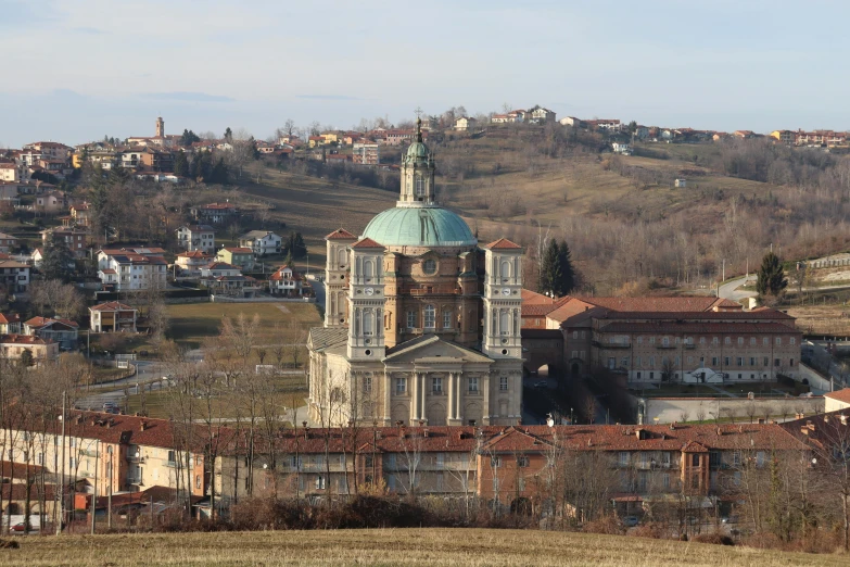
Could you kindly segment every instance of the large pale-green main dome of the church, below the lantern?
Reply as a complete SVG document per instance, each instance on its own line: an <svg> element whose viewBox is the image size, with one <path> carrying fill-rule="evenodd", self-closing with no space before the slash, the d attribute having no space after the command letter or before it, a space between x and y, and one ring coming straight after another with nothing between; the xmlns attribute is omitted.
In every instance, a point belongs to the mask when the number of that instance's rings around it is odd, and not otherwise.
<svg viewBox="0 0 850 567"><path fill-rule="evenodd" d="M397 206L372 218L360 238L385 247L475 245L466 222L452 211L436 206Z"/></svg>

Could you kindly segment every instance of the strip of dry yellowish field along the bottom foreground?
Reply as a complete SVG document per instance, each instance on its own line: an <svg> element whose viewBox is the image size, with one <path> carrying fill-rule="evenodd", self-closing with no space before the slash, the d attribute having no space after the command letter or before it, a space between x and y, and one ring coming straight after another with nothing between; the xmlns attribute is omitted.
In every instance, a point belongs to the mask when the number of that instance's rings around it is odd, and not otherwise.
<svg viewBox="0 0 850 567"><path fill-rule="evenodd" d="M640 538L546 531L396 529L21 538L5 567L39 566L843 566L805 555Z"/></svg>

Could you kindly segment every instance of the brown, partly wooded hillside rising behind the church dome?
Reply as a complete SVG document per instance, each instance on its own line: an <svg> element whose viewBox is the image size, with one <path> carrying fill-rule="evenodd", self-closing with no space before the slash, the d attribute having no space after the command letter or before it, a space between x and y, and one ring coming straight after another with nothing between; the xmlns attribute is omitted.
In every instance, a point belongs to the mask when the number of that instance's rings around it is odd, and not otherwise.
<svg viewBox="0 0 850 567"><path fill-rule="evenodd" d="M743 274L771 244L784 257L802 257L824 247L834 252L850 234L841 219L845 205L835 204L836 191L842 190L836 179L845 177L826 169L846 168L846 159L819 164L820 154L785 154L791 150L763 141L752 147L748 141L638 143L635 155L621 156L600 153L606 144L598 135L583 134L578 141L562 136L497 130L480 137L447 135L429 144L437 163L440 203L464 216L481 241L504 236L528 247L531 257L541 237L566 240L585 292L709 288L724 261L726 275ZM767 177L789 185L753 180L766 175L764 155L779 160L779 154L786 161L774 162ZM396 161L389 151L383 159ZM761 169L749 172L750 161ZM744 173L730 175L733 166ZM364 169L334 167L307 176L257 162L245 177L254 182L241 190L274 203L272 218L302 231L310 255L320 261L323 235L340 226L361 231L397 196L395 181L384 178L383 189L366 187L356 179ZM823 189L808 194L792 189L788 179L795 167ZM676 178L686 178L687 186L676 188ZM837 225L837 232L821 229L823 223Z"/></svg>

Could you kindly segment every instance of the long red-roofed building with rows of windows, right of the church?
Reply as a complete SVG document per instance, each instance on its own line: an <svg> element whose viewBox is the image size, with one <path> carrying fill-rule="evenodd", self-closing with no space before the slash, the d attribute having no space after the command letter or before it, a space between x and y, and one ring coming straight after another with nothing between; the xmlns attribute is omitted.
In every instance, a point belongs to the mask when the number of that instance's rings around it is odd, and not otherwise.
<svg viewBox="0 0 850 567"><path fill-rule="evenodd" d="M802 332L769 307L715 298L571 298L546 315L570 374L630 382L757 382L799 375Z"/></svg>

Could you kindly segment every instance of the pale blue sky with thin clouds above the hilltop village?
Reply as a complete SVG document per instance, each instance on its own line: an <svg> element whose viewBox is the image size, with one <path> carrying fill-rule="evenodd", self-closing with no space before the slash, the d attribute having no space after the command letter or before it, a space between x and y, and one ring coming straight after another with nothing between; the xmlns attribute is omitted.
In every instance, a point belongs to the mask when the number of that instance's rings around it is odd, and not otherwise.
<svg viewBox="0 0 850 567"><path fill-rule="evenodd" d="M0 0L0 147L470 114L850 129L850 2Z"/></svg>

